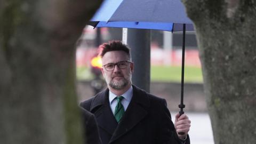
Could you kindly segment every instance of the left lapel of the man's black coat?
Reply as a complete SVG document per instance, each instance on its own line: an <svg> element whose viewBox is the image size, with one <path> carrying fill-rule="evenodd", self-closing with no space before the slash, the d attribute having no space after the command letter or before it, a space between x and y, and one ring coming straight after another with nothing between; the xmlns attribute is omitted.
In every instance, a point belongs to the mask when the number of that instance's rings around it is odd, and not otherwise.
<svg viewBox="0 0 256 144"><path fill-rule="evenodd" d="M117 127L117 122L109 106L108 90L99 93L94 98L90 111L94 113L98 126L112 135Z"/></svg>

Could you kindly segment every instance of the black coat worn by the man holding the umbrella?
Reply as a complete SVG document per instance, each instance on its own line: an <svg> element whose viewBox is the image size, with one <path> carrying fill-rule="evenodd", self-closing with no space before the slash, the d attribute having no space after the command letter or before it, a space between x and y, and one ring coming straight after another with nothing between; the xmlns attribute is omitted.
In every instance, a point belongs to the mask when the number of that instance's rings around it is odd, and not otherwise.
<svg viewBox="0 0 256 144"><path fill-rule="evenodd" d="M95 115L102 144L181 143L164 99L133 85L133 97L119 124L109 106L109 90L85 100L81 106ZM186 144L189 144L187 138Z"/></svg>

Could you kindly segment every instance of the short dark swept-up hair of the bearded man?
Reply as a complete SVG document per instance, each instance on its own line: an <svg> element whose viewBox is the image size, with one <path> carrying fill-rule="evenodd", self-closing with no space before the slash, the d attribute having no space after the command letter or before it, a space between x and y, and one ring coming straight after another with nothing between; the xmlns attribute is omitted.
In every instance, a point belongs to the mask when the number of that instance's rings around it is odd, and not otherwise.
<svg viewBox="0 0 256 144"><path fill-rule="evenodd" d="M127 53L129 58L131 58L129 47L127 47L127 45L123 44L121 41L109 41L108 43L103 43L99 46L99 55L101 58L105 53L110 51L124 51Z"/></svg>

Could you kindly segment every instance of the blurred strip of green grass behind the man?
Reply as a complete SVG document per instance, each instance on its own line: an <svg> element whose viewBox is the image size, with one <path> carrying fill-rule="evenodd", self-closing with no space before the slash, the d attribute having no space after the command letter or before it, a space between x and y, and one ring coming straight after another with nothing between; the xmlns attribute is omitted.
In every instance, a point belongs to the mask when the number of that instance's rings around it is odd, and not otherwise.
<svg viewBox="0 0 256 144"><path fill-rule="evenodd" d="M181 82L181 67L151 66L152 82ZM77 68L77 79L90 80L93 78L89 68ZM184 81L189 83L202 83L202 71L197 67L185 67Z"/></svg>

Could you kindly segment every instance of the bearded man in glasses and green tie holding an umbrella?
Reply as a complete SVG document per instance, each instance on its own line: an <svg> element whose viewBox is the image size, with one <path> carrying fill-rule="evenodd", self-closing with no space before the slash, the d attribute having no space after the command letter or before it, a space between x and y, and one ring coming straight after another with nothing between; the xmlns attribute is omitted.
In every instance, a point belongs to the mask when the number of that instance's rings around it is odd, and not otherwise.
<svg viewBox="0 0 256 144"><path fill-rule="evenodd" d="M130 49L119 41L99 48L108 89L81 106L95 115L102 143L190 143L188 117L177 114L174 127L166 101L132 85Z"/></svg>

